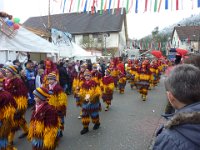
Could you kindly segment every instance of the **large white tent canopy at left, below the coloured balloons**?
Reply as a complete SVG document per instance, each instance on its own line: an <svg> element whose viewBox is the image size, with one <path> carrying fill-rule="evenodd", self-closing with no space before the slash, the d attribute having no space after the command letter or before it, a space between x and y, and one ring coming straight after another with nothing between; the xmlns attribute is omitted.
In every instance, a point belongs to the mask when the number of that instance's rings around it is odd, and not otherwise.
<svg viewBox="0 0 200 150"><path fill-rule="evenodd" d="M13 38L0 33L0 51L24 51L34 53L58 53L57 48L47 40L20 27Z"/></svg>

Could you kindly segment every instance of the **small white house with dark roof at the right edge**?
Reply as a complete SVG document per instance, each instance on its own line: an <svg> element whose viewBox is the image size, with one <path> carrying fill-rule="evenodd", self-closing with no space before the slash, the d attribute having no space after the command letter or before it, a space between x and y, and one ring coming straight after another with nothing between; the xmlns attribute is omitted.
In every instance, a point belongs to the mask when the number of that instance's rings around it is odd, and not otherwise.
<svg viewBox="0 0 200 150"><path fill-rule="evenodd" d="M176 26L171 36L171 47L200 53L200 26Z"/></svg>

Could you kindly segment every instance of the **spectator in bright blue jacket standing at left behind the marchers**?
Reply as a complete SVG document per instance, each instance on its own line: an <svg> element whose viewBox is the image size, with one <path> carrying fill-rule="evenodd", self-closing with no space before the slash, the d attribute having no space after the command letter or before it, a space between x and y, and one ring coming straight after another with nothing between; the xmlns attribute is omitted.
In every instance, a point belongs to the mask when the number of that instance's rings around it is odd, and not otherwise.
<svg viewBox="0 0 200 150"><path fill-rule="evenodd" d="M25 76L26 76L26 84L28 88L28 105L33 106L34 101L34 95L33 91L35 90L35 70L34 70L34 64L32 61L28 61L26 63L26 69L25 69Z"/></svg>

